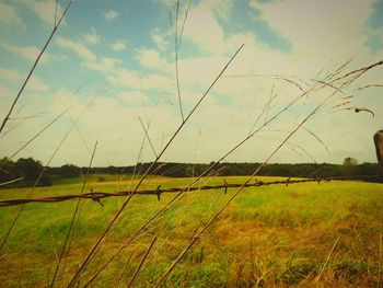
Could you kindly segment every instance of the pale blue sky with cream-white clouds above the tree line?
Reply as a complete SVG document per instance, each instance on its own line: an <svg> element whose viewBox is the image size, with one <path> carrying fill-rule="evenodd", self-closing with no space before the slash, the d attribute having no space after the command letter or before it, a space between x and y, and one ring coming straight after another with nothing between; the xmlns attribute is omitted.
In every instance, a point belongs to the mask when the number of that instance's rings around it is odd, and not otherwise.
<svg viewBox="0 0 383 288"><path fill-rule="evenodd" d="M13 160L88 165L97 141L94 165L153 161L183 120L177 35L184 118L244 46L160 161L217 161L259 128L224 161L263 162L321 104L269 162L376 161L382 67L347 87L330 85L326 77L383 60L383 1L188 4L179 2L177 18L175 1L74 1L0 135L0 157L14 154L65 112ZM66 5L0 0L1 119ZM372 87L360 89L365 85Z"/></svg>

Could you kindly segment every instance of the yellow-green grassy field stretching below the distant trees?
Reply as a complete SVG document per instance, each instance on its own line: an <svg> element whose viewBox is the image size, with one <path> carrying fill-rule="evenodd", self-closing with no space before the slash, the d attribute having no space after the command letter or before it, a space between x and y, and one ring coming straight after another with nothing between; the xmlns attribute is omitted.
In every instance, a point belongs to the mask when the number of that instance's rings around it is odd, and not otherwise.
<svg viewBox="0 0 383 288"><path fill-rule="evenodd" d="M132 185L113 177L104 177L105 182L101 183L96 177L92 180L90 186L94 191L117 191ZM245 177L225 180L236 183L244 182ZM151 177L142 188L154 188L159 184L183 186L189 182L188 178ZM201 184L207 183L221 184L222 178L206 180ZM76 180L58 181L51 187L37 188L33 197L77 194L81 185ZM28 188L2 189L0 198L23 198L28 192ZM116 257L94 286L126 287L156 235L158 241L134 286L155 285L194 232L208 222L234 192L185 194ZM155 196L135 196L81 276L80 284L85 284L95 269L173 196L162 195L160 201ZM104 206L82 201L71 250L56 286L68 284L123 200L107 198L102 200ZM1 287L49 285L76 203L25 206L0 255ZM0 208L1 239L18 209L20 207ZM165 286L383 287L382 237L382 184L330 182L246 188L196 242Z"/></svg>

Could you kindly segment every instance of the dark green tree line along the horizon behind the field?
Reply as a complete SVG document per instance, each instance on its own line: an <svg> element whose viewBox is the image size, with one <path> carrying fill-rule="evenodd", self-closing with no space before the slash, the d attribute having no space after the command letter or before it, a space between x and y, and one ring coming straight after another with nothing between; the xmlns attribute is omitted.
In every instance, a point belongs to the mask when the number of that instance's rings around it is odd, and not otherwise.
<svg viewBox="0 0 383 288"><path fill-rule="evenodd" d="M105 166L92 168L91 174L142 174L152 163L138 163L136 166ZM210 163L156 163L153 166L154 175L170 177L192 177L200 175L207 170ZM218 176L230 175L251 175L259 163L216 163L214 171L211 172ZM23 187L35 185L44 170L43 164L33 158L21 158L13 162L8 158L0 159L0 183L5 183L15 178L22 178L11 186ZM81 168L72 164L65 164L58 168L47 168L40 176L37 186L53 185L53 178L80 177L86 173L88 168ZM264 176L287 176L287 177L334 177L334 176L357 176L357 175L378 175L380 168L376 163L358 164L353 158L346 158L343 164L328 163L298 163L281 164L272 163L265 165L258 173ZM100 177L102 178L102 177ZM1 187L10 187L2 185Z"/></svg>

